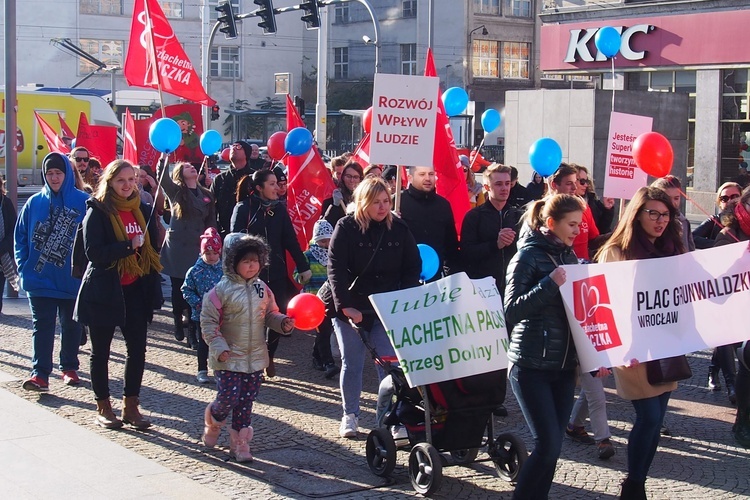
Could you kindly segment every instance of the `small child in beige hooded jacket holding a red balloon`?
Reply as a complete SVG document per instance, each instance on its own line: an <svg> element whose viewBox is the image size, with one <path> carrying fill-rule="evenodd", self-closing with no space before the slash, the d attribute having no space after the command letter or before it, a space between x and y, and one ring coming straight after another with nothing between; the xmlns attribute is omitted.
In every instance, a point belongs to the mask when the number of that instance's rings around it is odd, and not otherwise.
<svg viewBox="0 0 750 500"><path fill-rule="evenodd" d="M231 233L224 241L224 276L203 297L201 329L214 370L216 399L204 413L203 443L216 445L229 414L229 454L251 462L253 402L268 366L265 328L290 334L294 319L281 314L273 292L258 276L268 265L270 248L259 236Z"/></svg>

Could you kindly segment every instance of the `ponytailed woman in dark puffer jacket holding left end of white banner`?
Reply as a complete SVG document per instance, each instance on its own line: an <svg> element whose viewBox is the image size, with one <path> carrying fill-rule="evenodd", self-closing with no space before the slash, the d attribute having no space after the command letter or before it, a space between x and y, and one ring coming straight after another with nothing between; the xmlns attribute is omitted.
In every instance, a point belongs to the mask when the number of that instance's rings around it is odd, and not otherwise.
<svg viewBox="0 0 750 500"><path fill-rule="evenodd" d="M526 216L531 231L508 266L510 384L535 444L513 498L547 498L573 407L576 350L560 295L565 271L558 266L578 262L572 245L584 209L567 194L535 202Z"/></svg>

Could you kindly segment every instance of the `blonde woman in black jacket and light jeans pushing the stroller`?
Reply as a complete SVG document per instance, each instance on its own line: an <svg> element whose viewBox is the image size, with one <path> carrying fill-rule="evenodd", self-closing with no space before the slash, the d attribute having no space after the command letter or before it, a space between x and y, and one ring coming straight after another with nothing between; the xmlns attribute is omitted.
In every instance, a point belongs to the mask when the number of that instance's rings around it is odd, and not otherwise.
<svg viewBox="0 0 750 500"><path fill-rule="evenodd" d="M393 346L367 298L419 285L422 260L406 223L393 216L388 185L367 178L354 191L355 209L333 230L328 250L328 280L336 318L333 329L341 349L341 397L344 416L339 434L356 437L362 392L365 346L349 320L370 333L381 356L393 356ZM378 369L379 378L384 374Z"/></svg>

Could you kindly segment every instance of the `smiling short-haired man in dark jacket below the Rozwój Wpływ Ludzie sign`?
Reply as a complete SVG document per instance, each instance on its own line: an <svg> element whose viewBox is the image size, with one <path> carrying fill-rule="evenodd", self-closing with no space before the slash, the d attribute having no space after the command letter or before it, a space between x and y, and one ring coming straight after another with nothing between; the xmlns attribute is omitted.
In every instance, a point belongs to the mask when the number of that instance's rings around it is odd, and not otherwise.
<svg viewBox="0 0 750 500"><path fill-rule="evenodd" d="M435 192L433 167L410 167L409 187L401 196L401 219L409 226L417 244L432 247L440 259L438 273L428 279L440 279L441 270L447 276L456 272L458 265L458 235L448 200Z"/></svg>

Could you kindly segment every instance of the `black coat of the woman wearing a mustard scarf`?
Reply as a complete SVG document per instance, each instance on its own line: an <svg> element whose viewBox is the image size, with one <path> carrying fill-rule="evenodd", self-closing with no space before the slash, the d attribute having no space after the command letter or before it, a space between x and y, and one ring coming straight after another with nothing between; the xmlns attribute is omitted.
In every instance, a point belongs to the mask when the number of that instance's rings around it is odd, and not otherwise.
<svg viewBox="0 0 750 500"><path fill-rule="evenodd" d="M125 298L122 294L120 275L115 265L118 259L133 255L130 241L118 241L109 214L101 203L93 198L86 201L86 216L83 218L83 246L89 260L78 290L73 318L84 325L125 325ZM141 203L143 218L148 220L151 207ZM148 225L152 242L156 241L156 220ZM153 311L161 308L161 279L157 272L138 279L135 284L143 287L146 305L146 321L151 322Z"/></svg>

